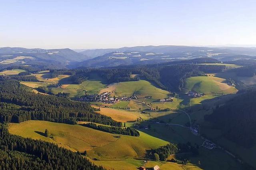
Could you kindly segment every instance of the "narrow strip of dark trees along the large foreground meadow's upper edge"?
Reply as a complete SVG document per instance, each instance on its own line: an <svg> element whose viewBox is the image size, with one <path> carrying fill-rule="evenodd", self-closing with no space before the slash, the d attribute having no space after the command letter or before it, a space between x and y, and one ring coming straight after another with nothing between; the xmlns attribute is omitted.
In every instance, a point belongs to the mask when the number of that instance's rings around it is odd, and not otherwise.
<svg viewBox="0 0 256 170"><path fill-rule="evenodd" d="M92 129L96 129L99 131L104 131L108 133L114 133L114 134L121 134L121 135L130 135L130 136L140 136L140 133L132 128L132 127L127 127L127 128L121 128L121 127L113 127L113 126L104 126L104 125L96 125L95 123L84 123L82 126L85 127L90 127Z"/></svg>

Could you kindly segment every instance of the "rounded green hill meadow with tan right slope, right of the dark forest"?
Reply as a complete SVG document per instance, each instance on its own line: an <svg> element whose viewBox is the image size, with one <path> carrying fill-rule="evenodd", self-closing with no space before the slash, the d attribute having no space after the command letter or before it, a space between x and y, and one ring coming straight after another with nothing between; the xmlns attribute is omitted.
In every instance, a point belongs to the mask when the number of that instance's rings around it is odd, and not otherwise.
<svg viewBox="0 0 256 170"><path fill-rule="evenodd" d="M204 94L228 94L237 92L236 88L224 83L225 79L214 76L197 76L186 79L185 88Z"/></svg>

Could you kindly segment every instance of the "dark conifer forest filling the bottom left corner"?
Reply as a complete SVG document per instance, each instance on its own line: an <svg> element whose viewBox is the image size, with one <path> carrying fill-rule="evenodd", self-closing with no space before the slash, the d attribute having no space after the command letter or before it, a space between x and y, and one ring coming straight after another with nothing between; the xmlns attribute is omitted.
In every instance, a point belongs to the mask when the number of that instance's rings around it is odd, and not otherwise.
<svg viewBox="0 0 256 170"><path fill-rule="evenodd" d="M58 145L11 135L6 124L0 124L0 169L104 170Z"/></svg>

